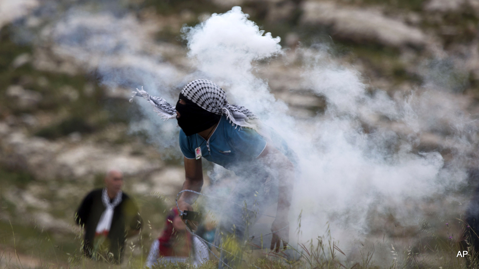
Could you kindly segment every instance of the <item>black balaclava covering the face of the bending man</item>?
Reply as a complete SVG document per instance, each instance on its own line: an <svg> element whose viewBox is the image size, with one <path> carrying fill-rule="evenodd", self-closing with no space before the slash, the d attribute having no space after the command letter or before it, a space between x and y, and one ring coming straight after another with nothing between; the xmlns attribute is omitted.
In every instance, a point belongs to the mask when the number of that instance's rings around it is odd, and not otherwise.
<svg viewBox="0 0 479 269"><path fill-rule="evenodd" d="M181 104L180 100L185 101L186 104ZM176 118L178 120L178 125L187 136L205 131L209 127L215 125L221 118L221 115L217 115L201 108L181 93L175 109L180 112L180 117Z"/></svg>

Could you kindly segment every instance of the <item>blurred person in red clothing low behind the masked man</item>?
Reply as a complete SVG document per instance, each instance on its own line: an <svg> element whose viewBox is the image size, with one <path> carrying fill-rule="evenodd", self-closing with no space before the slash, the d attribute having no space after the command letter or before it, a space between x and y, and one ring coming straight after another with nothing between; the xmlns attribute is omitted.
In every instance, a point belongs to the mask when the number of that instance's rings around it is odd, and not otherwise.
<svg viewBox="0 0 479 269"><path fill-rule="evenodd" d="M155 263L187 262L188 258L194 265L203 263L209 259L208 247L186 230L175 207L166 218L162 234L151 244L146 266L151 268Z"/></svg>

